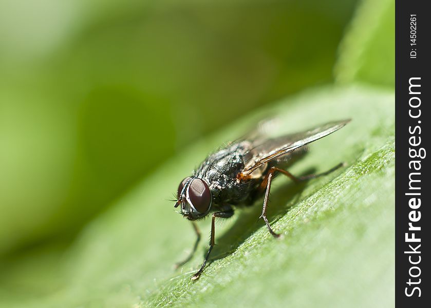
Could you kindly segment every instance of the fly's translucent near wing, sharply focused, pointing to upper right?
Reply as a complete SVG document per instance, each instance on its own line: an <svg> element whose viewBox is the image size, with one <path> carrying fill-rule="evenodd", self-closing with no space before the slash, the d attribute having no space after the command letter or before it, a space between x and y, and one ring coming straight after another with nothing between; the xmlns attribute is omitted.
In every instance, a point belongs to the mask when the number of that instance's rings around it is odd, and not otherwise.
<svg viewBox="0 0 431 308"><path fill-rule="evenodd" d="M299 147L302 147L310 142L321 139L334 131L339 130L344 125L350 122L349 120L329 122L306 131L288 134L286 136L267 139L265 141L253 141L253 160L248 161L245 168L241 172L241 176L248 176L260 166L286 155Z"/></svg>

